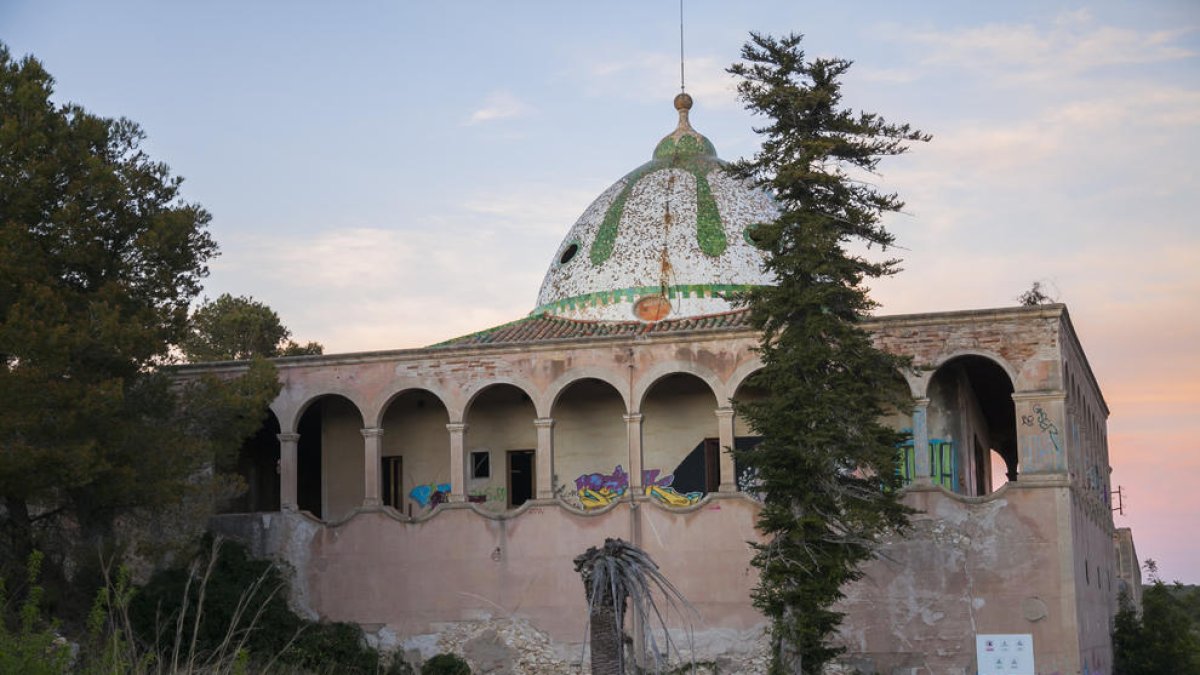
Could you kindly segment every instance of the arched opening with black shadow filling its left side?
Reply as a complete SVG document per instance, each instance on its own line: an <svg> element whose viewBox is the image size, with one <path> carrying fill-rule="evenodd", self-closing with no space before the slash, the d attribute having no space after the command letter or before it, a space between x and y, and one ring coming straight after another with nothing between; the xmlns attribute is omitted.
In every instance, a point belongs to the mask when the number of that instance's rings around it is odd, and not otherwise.
<svg viewBox="0 0 1200 675"><path fill-rule="evenodd" d="M325 520L362 504L362 408L341 393L308 398L296 411L296 503Z"/></svg>

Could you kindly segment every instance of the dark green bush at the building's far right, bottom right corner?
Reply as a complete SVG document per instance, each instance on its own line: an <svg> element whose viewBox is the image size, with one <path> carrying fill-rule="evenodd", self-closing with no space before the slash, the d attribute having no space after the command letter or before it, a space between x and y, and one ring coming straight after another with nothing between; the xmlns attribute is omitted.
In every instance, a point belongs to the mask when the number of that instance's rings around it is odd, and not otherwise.
<svg viewBox="0 0 1200 675"><path fill-rule="evenodd" d="M1200 674L1200 626L1193 620L1200 596L1178 583L1158 579L1146 561L1151 585L1141 595L1141 615L1122 591L1112 621L1114 670L1118 675Z"/></svg>

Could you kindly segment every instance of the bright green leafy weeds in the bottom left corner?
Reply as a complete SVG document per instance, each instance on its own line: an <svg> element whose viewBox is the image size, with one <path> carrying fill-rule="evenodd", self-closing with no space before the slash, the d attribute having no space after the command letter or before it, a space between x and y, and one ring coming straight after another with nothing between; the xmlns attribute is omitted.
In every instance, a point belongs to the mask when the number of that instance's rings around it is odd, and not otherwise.
<svg viewBox="0 0 1200 675"><path fill-rule="evenodd" d="M60 675L71 663L65 640L42 617L42 587L38 586L42 560L42 554L34 551L25 566L25 601L17 610L16 632L8 629L8 595L0 578L0 673Z"/></svg>

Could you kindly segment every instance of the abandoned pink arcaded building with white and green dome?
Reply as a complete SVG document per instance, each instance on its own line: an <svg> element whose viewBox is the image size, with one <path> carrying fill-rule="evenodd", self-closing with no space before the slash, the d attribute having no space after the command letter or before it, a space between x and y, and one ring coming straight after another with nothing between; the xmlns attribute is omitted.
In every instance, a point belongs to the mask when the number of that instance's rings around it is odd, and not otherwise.
<svg viewBox="0 0 1200 675"><path fill-rule="evenodd" d="M287 560L310 614L425 656L517 623L577 662L571 558L620 537L698 610L697 657L761 663L758 503L727 452L755 442L731 401L762 395L746 384L757 335L728 298L770 282L752 232L775 207L720 171L690 97L676 107L650 161L553 251L529 316L277 362L283 389L241 454L248 490L216 526ZM1039 673L1111 673L1108 408L1067 309L866 327L918 366L898 374L912 410L889 419L911 430L898 452L919 513L847 590L847 661L976 673L977 635L1028 634Z"/></svg>

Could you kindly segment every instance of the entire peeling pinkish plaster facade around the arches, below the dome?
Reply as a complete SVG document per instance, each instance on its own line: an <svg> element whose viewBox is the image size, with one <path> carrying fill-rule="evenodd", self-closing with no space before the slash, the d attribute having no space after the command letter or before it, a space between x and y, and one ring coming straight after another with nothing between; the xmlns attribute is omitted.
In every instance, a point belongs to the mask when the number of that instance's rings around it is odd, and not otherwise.
<svg viewBox="0 0 1200 675"><path fill-rule="evenodd" d="M1117 587L1114 583L1109 591L1106 573L1116 565L1111 514L1103 501L1106 483L1104 489L1088 483L1087 467L1097 466L1108 478L1108 408L1066 309L912 315L872 319L865 327L881 347L913 358L917 368L905 377L918 399L930 394L934 369L956 356L982 356L1002 368L1015 388L1022 473L1018 483L988 497L936 488L908 492L906 498L923 512L911 538L889 543L888 557L871 563L847 595L844 638L851 652L864 667L883 671L928 661L934 673L970 673L974 633L1030 632L1039 670L1082 673L1086 664L1091 673L1106 673L1108 621ZM685 413L688 429L679 432L702 438L715 435L709 431L716 429L714 406L727 405L733 388L756 366L755 345L752 333L727 330L283 360L284 388L272 410L281 430L294 431L307 402L343 394L364 419L376 420L395 393L425 388L445 401L448 418L457 422L474 392L509 382L532 399L532 412L512 422L532 438L532 419L554 417L554 396L574 381L594 377L613 386L614 396L602 404L608 417L608 406L613 414L637 411L637 401L664 375L688 372L706 383L708 398L691 405L683 396L664 412L691 411ZM244 366L228 370L238 368ZM649 404L653 395L642 411L644 419L659 418ZM361 423L349 405L343 407L344 414L326 429L329 447L361 462ZM564 419L570 417L566 410ZM734 422L738 435L746 434L744 424ZM556 423L554 446L563 461L578 452L576 443L589 438L586 414L572 424ZM384 426L390 426L386 418ZM605 429L617 441L622 428ZM394 448L392 438L403 437L386 431L385 454ZM473 422L467 450L476 431ZM655 450L649 444L644 450L646 466L655 467ZM574 456L569 461L581 455ZM582 514L557 502L538 502L499 518L468 504L446 504L432 518L366 509L336 522L338 509L350 513L359 506L355 496L362 495L361 465L356 484L353 472L343 473L325 477L326 490L337 495L336 504L329 501L326 524L272 514L269 522L254 525L274 530L258 537L263 548L296 566L302 603L324 617L422 635L448 622L511 615L528 619L556 644L577 644L583 598L570 558L605 536L619 536L647 546L668 578L698 602L706 631L762 625L749 602L754 575L745 546L755 536L757 507L740 495L713 495L673 512L623 501ZM559 478L568 479L562 471ZM1092 583L1097 566L1103 586Z"/></svg>

